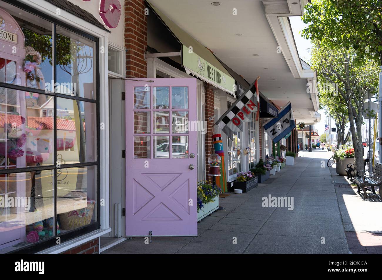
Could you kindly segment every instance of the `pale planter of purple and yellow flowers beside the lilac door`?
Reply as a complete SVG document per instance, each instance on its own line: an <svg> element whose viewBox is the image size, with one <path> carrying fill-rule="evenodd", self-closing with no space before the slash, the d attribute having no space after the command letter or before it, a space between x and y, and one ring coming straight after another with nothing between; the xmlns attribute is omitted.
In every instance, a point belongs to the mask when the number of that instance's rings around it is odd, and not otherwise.
<svg viewBox="0 0 382 280"><path fill-rule="evenodd" d="M220 187L207 181L197 183L197 221L219 209Z"/></svg>

